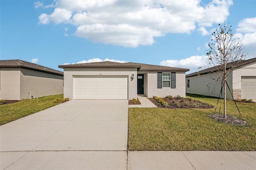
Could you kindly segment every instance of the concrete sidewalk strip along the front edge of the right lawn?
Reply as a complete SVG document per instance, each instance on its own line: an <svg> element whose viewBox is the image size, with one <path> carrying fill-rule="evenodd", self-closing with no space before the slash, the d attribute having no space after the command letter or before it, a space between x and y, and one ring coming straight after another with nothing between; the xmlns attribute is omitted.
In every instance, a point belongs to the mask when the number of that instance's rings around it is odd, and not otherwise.
<svg viewBox="0 0 256 170"><path fill-rule="evenodd" d="M128 151L128 170L255 170L255 151Z"/></svg>

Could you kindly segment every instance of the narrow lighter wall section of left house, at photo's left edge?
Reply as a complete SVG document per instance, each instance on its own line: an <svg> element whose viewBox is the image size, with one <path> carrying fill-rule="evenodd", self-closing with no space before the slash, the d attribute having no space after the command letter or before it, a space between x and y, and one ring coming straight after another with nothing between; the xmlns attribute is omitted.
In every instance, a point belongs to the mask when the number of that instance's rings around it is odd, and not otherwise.
<svg viewBox="0 0 256 170"><path fill-rule="evenodd" d="M0 69L0 99L20 100L20 69Z"/></svg>

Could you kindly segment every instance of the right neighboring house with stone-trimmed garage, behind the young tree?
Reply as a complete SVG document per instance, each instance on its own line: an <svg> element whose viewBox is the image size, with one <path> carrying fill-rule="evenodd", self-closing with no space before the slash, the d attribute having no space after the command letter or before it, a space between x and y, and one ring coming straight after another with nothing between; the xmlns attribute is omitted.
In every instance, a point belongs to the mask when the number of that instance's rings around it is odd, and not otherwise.
<svg viewBox="0 0 256 170"><path fill-rule="evenodd" d="M232 63L227 66L231 67ZM217 73L211 70L209 68L186 75L186 93L219 97L221 85L211 78L218 77ZM230 73L227 83L234 99L256 100L256 58L242 60L239 67ZM230 91L227 87L227 99L232 99Z"/></svg>

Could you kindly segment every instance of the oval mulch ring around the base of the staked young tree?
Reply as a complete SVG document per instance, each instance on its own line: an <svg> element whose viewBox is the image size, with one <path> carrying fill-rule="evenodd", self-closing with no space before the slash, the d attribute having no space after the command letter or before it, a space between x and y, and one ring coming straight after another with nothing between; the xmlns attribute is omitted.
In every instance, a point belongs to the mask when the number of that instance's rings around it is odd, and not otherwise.
<svg viewBox="0 0 256 170"><path fill-rule="evenodd" d="M221 121L224 123L227 123L229 125L238 125L238 126L244 126L246 125L246 121L243 121L237 117L234 117L232 115L227 115L227 118L224 118L223 114L211 114L209 115L210 118L215 119L217 121Z"/></svg>

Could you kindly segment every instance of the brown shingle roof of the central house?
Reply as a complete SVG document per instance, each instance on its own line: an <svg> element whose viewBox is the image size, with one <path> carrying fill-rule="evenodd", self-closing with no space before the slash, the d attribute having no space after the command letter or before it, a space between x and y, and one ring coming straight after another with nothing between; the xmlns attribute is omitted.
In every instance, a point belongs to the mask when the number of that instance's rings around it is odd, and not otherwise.
<svg viewBox="0 0 256 170"><path fill-rule="evenodd" d="M80 63L59 65L60 68L137 68L138 71L189 71L189 69L166 67L160 65L142 64L142 63L117 63L112 61L102 61L94 63Z"/></svg>

